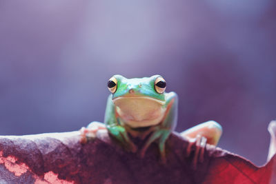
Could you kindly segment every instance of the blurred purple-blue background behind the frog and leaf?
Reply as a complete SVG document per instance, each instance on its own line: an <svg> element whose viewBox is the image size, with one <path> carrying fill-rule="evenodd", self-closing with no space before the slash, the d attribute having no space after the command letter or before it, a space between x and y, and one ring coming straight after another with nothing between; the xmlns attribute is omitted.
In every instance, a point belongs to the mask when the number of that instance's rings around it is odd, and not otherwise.
<svg viewBox="0 0 276 184"><path fill-rule="evenodd" d="M276 117L276 1L0 1L0 134L103 121L106 83L161 74L177 132L222 125L219 147L266 162Z"/></svg>

